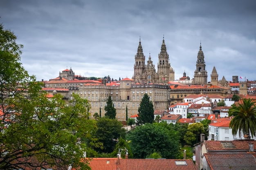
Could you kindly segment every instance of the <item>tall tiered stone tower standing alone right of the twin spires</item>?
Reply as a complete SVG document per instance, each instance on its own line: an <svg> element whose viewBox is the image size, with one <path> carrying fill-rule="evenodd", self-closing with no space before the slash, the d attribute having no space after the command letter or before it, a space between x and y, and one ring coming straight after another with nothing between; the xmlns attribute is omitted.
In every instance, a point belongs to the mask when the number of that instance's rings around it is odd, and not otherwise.
<svg viewBox="0 0 256 170"><path fill-rule="evenodd" d="M200 49L198 51L198 60L196 61L196 70L194 75L195 84L207 84L207 71L205 69L204 53L200 43Z"/></svg>

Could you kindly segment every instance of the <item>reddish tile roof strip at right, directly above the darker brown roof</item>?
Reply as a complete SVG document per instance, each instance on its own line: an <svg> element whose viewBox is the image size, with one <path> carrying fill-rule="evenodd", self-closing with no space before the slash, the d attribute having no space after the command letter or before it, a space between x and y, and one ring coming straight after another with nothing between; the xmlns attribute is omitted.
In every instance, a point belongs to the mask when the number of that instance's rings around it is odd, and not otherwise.
<svg viewBox="0 0 256 170"><path fill-rule="evenodd" d="M249 143L254 144L256 150L255 140L234 140L234 141L204 141L204 145L208 151L216 150L248 150Z"/></svg>

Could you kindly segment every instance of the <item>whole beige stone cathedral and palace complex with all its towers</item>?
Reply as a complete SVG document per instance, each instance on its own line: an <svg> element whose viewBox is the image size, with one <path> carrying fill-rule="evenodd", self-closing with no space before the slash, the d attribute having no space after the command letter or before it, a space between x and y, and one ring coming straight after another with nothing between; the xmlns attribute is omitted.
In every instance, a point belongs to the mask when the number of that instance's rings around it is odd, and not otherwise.
<svg viewBox="0 0 256 170"><path fill-rule="evenodd" d="M164 39L158 59L156 71L150 56L145 63L145 56L139 40L132 79L125 78L119 82L112 82L110 79L99 79L98 81L77 79L70 68L70 70L66 69L60 72L59 77L45 82L45 88L68 89L68 99L72 99L73 93L79 94L83 99L88 99L91 104L91 115L99 113L101 110L101 115L104 116L108 96L111 96L117 111L116 118L121 121L126 120L126 107L128 117L138 113L139 104L145 93L150 97L155 110L168 110L170 105L182 102L187 95L217 94L225 97L231 94L225 78L222 78L223 81L218 81L215 67L211 74L211 83L207 83L206 64L201 44L197 55L194 79L182 80L189 81L189 84L174 84L174 70L169 62ZM184 76L186 77L186 74Z"/></svg>

